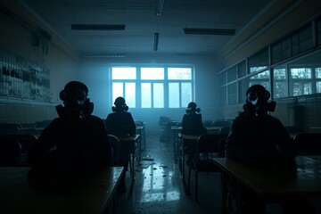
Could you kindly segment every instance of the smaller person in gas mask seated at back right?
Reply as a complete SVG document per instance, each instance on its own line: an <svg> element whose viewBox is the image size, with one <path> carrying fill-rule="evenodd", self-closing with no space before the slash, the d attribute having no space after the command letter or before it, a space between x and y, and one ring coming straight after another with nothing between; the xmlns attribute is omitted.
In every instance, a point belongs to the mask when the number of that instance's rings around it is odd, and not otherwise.
<svg viewBox="0 0 321 214"><path fill-rule="evenodd" d="M182 119L182 134L201 136L207 133L207 129L203 127L202 124L202 114L201 109L197 108L197 104L194 102L188 103L186 113ZM181 147L181 145L179 145ZM195 142L193 140L184 141L185 154L188 155L186 164L189 165L193 160L193 153L195 152ZM182 150L183 148L180 148Z"/></svg>

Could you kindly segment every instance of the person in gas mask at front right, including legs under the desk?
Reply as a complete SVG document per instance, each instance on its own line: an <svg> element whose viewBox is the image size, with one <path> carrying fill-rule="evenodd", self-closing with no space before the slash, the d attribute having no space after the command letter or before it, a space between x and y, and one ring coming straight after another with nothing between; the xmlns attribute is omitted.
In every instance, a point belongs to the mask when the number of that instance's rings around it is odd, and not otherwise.
<svg viewBox="0 0 321 214"><path fill-rule="evenodd" d="M296 152L292 138L281 121L268 113L275 111L276 107L276 102L268 102L269 98L270 93L264 86L248 88L243 112L233 120L226 139L226 157L272 169L295 170ZM256 195L245 190L241 194L250 202L244 205L247 213L265 213L265 204ZM284 208L284 213L314 213L309 202L303 198L277 202Z"/></svg>

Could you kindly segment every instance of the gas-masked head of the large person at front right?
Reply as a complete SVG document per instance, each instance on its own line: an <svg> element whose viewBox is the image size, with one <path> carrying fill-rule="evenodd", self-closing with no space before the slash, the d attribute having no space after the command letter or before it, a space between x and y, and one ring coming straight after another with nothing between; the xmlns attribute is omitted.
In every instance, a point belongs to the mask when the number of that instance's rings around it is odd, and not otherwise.
<svg viewBox="0 0 321 214"><path fill-rule="evenodd" d="M253 113L264 113L267 111L274 111L276 107L275 102L268 103L270 93L261 85L253 85L246 91L246 104L244 111L252 111Z"/></svg>

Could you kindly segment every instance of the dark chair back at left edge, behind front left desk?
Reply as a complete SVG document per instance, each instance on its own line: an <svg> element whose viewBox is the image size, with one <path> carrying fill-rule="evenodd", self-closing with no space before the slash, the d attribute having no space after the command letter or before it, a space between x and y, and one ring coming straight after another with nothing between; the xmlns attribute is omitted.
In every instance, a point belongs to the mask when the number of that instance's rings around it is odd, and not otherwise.
<svg viewBox="0 0 321 214"><path fill-rule="evenodd" d="M0 137L0 167L16 167L21 160L21 144L17 140Z"/></svg>

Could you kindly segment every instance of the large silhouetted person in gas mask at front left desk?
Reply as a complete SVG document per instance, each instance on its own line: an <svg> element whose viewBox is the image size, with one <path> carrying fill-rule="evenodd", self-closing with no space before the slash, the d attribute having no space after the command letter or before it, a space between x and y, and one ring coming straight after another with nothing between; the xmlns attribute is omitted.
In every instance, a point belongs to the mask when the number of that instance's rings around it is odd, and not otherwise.
<svg viewBox="0 0 321 214"><path fill-rule="evenodd" d="M103 119L91 113L88 88L78 81L69 82L57 105L59 118L41 132L29 149L29 165L40 170L92 170L111 166L111 144Z"/></svg>

